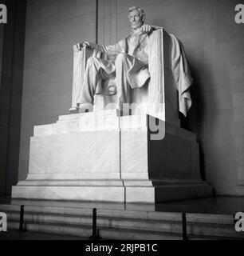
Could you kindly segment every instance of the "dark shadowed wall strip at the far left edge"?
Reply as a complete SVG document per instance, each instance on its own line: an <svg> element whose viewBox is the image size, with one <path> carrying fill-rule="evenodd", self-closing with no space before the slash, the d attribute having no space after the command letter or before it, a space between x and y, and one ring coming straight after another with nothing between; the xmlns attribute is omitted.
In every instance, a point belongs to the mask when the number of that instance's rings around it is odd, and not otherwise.
<svg viewBox="0 0 244 256"><path fill-rule="evenodd" d="M0 24L0 196L18 182L26 0L6 6L7 24Z"/></svg>

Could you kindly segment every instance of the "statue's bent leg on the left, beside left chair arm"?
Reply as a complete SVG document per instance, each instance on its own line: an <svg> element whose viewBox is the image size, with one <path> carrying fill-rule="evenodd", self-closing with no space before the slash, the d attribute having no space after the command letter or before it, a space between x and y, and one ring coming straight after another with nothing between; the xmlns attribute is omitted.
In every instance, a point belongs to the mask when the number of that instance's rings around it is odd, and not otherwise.
<svg viewBox="0 0 244 256"><path fill-rule="evenodd" d="M85 68L85 77L81 89L81 97L79 98L80 108L82 106L93 105L96 86L105 79L115 76L115 66L111 61L101 58L91 57L87 61Z"/></svg>

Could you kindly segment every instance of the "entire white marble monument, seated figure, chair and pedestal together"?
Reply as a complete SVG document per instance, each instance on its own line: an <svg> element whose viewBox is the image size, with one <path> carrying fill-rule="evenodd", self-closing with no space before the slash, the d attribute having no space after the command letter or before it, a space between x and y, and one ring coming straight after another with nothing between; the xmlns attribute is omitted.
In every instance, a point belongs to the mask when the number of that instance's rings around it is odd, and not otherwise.
<svg viewBox="0 0 244 256"><path fill-rule="evenodd" d="M144 24L140 8L129 9L129 20L131 33L114 46L74 46L72 114L34 127L29 174L12 198L125 206L211 196L196 135L179 123L179 111L191 107L183 45ZM148 109L124 114L134 103Z"/></svg>

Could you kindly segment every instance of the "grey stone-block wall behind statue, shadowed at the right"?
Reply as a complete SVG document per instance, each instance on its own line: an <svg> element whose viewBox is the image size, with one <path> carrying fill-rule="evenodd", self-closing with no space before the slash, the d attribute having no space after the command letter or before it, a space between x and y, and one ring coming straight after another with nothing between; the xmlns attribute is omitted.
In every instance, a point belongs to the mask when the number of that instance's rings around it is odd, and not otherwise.
<svg viewBox="0 0 244 256"><path fill-rule="evenodd" d="M197 134L201 172L218 194L244 194L244 34L234 22L238 0L99 0L98 42L128 34L128 6L184 44L192 75L193 107L183 126ZM96 40L95 0L29 0L22 97L19 179L28 173L33 126L68 114L72 45ZM238 186L239 185L239 186ZM242 186L243 185L243 186Z"/></svg>

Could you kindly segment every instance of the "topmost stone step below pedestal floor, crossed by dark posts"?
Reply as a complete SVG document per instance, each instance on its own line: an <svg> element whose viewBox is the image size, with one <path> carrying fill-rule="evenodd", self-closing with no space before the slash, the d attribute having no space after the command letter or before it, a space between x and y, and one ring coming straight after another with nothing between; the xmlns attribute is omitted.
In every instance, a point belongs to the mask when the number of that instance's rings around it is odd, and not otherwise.
<svg viewBox="0 0 244 256"><path fill-rule="evenodd" d="M93 206L96 206L94 204ZM109 205L108 205L109 206ZM119 207L120 206L120 207ZM136 205L133 205L136 207ZM132 206L132 207L133 207ZM140 205L141 206L141 205ZM109 210L109 209L98 209L98 217L109 217L113 218L136 218L144 220L155 220L155 221L172 221L181 222L182 214L176 212L160 212L154 210L124 210L121 205L118 205L120 209ZM99 208L99 206L97 207ZM0 210L3 212L18 213L20 206L18 205L0 205ZM92 216L92 206L86 208L78 208L74 206L69 207L55 207L55 206L25 206L26 213L33 214L55 214L57 216ZM188 222L199 222L199 223L209 223L209 224L233 224L233 216L227 214L187 214Z"/></svg>

